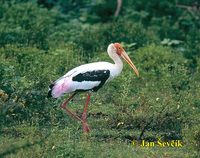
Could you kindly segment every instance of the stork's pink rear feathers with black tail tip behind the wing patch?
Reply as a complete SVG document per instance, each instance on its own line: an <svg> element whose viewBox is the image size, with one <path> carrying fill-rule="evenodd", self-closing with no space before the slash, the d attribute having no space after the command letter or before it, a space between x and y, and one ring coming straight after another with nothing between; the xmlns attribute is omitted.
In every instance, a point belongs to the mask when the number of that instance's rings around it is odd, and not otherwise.
<svg viewBox="0 0 200 158"><path fill-rule="evenodd" d="M67 78L60 79L55 81L53 84L49 86L49 97L58 98L62 96L64 93L67 93L70 89L70 84Z"/></svg>

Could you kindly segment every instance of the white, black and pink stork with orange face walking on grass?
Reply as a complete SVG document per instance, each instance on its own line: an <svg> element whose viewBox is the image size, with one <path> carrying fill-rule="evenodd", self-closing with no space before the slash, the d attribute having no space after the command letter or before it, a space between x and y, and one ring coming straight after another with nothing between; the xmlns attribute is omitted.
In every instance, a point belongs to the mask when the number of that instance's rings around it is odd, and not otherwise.
<svg viewBox="0 0 200 158"><path fill-rule="evenodd" d="M131 59L119 43L111 43L107 48L108 55L114 64L108 62L94 62L78 66L49 86L48 97L58 98L65 93L74 92L65 102L61 104L67 113L82 122L83 132L90 131L87 124L87 109L90 101L90 91L98 91L106 82L118 76L123 68L121 57L132 67L137 76L139 72ZM87 99L82 117L78 117L67 108L68 102L78 93L87 92Z"/></svg>

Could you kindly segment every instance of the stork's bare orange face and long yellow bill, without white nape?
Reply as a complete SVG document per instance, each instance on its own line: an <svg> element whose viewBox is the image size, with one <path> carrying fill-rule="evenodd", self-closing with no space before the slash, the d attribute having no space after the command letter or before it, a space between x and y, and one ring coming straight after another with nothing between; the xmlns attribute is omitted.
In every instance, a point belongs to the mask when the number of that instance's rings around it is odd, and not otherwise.
<svg viewBox="0 0 200 158"><path fill-rule="evenodd" d="M122 48L121 44L119 43L114 43L115 48L117 49L117 54L122 57L130 66L131 68L134 70L135 74L137 76L139 76L139 72L137 70L137 68L135 67L135 65L133 64L133 62L131 61L131 59L129 58L128 54L125 52L125 50Z"/></svg>

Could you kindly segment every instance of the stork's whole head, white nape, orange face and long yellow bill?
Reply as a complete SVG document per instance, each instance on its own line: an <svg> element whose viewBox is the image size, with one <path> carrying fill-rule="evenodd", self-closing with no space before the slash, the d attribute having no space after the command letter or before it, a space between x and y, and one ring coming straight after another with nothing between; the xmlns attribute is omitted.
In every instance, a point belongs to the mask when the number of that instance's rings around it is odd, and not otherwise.
<svg viewBox="0 0 200 158"><path fill-rule="evenodd" d="M137 76L139 76L139 72L138 72L137 68L135 67L135 65L133 64L133 62L129 58L129 56L126 53L126 51L121 46L121 44L119 44L119 43L114 43L114 44L111 43L108 46L108 53L109 53L109 55L111 55L111 54L113 54L113 55L117 54L117 56L122 57L131 66L131 68L134 70L135 74Z"/></svg>

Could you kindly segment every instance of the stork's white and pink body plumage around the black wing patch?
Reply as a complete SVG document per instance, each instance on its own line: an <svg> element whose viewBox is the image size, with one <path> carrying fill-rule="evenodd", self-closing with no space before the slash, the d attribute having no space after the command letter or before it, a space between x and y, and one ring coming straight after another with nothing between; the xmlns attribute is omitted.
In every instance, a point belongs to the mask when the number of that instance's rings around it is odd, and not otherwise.
<svg viewBox="0 0 200 158"><path fill-rule="evenodd" d="M121 60L121 59L120 59ZM122 65L123 66L123 65ZM78 66L69 72L67 72L64 76L59 78L54 82L54 87L52 88L51 95L54 98L60 97L64 93L74 92L78 89L81 90L91 90L94 87L99 86L101 81L82 81L77 82L73 81L72 78L80 73L86 73L96 70L109 70L110 76L106 80L106 82L112 80L114 77L120 74L121 69L117 69L115 64L111 64L108 62L96 62L90 64L84 64Z"/></svg>

